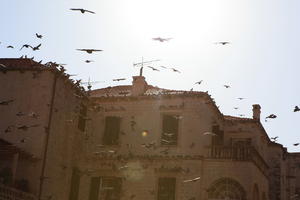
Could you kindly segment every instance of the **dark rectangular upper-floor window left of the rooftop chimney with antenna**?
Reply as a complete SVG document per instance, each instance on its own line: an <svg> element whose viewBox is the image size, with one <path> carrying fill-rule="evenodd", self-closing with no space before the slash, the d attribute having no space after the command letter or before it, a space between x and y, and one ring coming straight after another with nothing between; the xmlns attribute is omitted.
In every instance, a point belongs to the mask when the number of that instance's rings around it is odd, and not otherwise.
<svg viewBox="0 0 300 200"><path fill-rule="evenodd" d="M119 140L120 133L120 117L106 117L105 118L105 129L103 135L103 144L105 145L116 145Z"/></svg>

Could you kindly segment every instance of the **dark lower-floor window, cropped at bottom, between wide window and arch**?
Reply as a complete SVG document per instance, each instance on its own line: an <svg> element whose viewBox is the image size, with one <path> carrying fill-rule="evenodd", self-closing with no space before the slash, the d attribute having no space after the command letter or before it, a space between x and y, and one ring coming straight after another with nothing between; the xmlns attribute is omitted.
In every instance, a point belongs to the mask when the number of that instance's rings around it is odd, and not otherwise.
<svg viewBox="0 0 300 200"><path fill-rule="evenodd" d="M163 177L158 179L157 200L175 200L176 178Z"/></svg>

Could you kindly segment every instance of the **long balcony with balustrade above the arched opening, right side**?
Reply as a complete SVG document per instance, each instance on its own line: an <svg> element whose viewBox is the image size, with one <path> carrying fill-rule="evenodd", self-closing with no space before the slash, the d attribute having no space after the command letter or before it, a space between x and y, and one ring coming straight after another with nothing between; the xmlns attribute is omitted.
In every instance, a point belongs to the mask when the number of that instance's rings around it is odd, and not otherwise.
<svg viewBox="0 0 300 200"><path fill-rule="evenodd" d="M209 159L250 161L253 162L266 177L268 177L269 166L252 146L210 146L207 147L205 157Z"/></svg>

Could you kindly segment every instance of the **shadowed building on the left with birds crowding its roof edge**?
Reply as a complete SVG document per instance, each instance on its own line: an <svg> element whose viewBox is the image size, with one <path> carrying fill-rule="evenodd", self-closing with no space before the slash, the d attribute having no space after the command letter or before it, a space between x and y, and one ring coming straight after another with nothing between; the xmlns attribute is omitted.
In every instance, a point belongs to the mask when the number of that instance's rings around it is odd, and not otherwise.
<svg viewBox="0 0 300 200"><path fill-rule="evenodd" d="M55 63L0 63L0 199L68 199L85 92Z"/></svg>

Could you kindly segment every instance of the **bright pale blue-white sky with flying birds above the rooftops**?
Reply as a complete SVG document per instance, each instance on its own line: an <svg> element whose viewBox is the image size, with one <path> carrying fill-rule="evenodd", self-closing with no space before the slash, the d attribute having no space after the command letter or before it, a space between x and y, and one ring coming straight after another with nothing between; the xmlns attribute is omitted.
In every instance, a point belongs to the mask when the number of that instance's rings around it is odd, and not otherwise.
<svg viewBox="0 0 300 200"><path fill-rule="evenodd" d="M131 84L139 74L133 63L159 59L151 63L159 72L144 69L148 84L208 91L225 115L252 117L252 105L260 104L269 137L300 151L293 146L300 142L300 112L293 112L300 106L299 0L1 0L0 7L2 58L67 64L74 79L99 81L92 89ZM221 41L230 44L216 44ZM38 51L19 50L40 43ZM265 122L270 114L277 118Z"/></svg>

